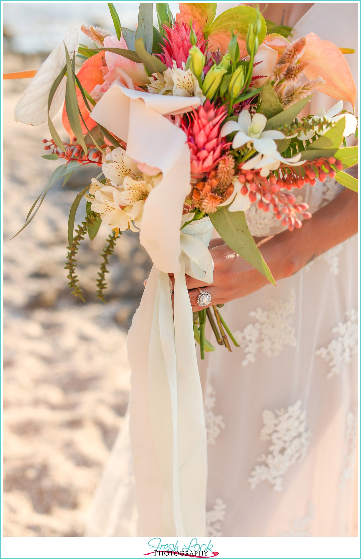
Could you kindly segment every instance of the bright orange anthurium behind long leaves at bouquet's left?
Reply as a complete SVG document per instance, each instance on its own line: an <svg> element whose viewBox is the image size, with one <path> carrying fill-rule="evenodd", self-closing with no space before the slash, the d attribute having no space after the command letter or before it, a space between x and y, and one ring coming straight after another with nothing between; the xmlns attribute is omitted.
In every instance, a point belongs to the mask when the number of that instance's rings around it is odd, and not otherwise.
<svg viewBox="0 0 361 559"><path fill-rule="evenodd" d="M98 54L94 54L94 56L90 56L88 60L85 60L78 74L76 74L80 80L81 85L88 93L92 92L95 86L101 85L104 82L103 73L101 70L102 58L104 58L104 53L98 53ZM83 115L85 124L86 126L88 126L89 130L92 130L92 128L94 128L96 124L95 121L91 119L89 116L89 111L85 107L83 96L81 95L80 89L78 87L76 87L76 97L78 98L78 105L81 114ZM74 132L71 130L69 120L68 120L68 115L66 115L65 103L64 103L64 108L62 110L62 125L64 126L65 130L68 132L70 139L73 138ZM86 134L86 132L88 132L88 130L86 130L83 124L83 121L81 121L81 130L83 131L83 134Z"/></svg>

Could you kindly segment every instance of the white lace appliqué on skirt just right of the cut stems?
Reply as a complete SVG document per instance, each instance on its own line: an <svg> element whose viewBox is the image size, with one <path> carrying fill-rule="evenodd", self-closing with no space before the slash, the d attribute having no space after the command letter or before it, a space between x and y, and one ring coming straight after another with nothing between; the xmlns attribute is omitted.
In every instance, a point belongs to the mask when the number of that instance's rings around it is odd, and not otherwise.
<svg viewBox="0 0 361 559"><path fill-rule="evenodd" d="M244 348L246 359L242 361L243 367L248 363L253 363L258 348L267 357L277 357L283 350L283 345L296 346L294 337L295 329L291 326L291 315L296 308L296 295L292 289L290 297L286 303L281 299L268 300L271 309L263 311L257 307L255 311L249 312L249 316L254 317L257 322L248 324L243 332L235 331L234 337L240 347Z"/></svg>

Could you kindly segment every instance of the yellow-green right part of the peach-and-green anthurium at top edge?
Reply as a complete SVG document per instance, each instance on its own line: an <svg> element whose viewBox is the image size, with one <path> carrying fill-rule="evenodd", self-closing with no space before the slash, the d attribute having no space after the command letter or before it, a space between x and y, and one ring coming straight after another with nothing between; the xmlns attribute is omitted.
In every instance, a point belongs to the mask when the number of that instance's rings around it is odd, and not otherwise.
<svg viewBox="0 0 361 559"><path fill-rule="evenodd" d="M211 6L212 4L200 4L201 6ZM216 4L213 4L216 7ZM214 16L213 16L214 17ZM257 17L257 10L249 6L236 6L230 8L221 13L214 21L209 25L207 22L205 34L209 35L229 35L233 29L235 34L239 34L239 39L246 40L248 26L250 23L254 23ZM264 37L266 37L267 26L261 15L262 27L258 34L258 42L261 44Z"/></svg>

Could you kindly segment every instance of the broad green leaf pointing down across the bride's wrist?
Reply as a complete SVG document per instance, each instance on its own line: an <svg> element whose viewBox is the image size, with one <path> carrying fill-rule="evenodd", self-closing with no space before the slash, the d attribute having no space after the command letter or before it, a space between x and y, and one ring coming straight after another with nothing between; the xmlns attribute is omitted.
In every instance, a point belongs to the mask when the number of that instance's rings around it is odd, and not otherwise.
<svg viewBox="0 0 361 559"><path fill-rule="evenodd" d="M276 285L269 268L259 252L253 236L249 233L246 217L243 211L230 212L228 206L218 208L214 214L209 214L209 219L225 243L234 252L247 260L268 281Z"/></svg>

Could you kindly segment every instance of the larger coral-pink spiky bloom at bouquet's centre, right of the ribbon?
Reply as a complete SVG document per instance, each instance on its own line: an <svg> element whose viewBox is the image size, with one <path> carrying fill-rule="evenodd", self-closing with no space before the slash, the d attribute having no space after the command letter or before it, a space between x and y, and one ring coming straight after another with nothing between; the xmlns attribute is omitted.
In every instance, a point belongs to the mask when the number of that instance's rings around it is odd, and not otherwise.
<svg viewBox="0 0 361 559"><path fill-rule="evenodd" d="M220 125L227 115L227 108L215 108L214 104L206 100L204 106L199 106L191 113L192 121L187 132L190 149L191 174L201 178L204 173L216 167L222 151L230 146L220 137Z"/></svg>

